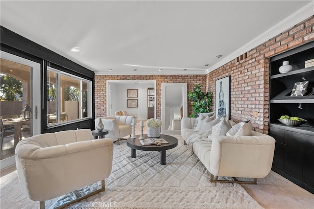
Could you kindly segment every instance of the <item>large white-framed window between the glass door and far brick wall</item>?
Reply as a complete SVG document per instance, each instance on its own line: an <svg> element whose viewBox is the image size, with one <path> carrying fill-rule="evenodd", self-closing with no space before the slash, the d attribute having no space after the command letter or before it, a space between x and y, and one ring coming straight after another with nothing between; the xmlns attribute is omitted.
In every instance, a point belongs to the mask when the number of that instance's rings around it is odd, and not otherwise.
<svg viewBox="0 0 314 209"><path fill-rule="evenodd" d="M91 117L91 91L91 81L48 67L48 125Z"/></svg>

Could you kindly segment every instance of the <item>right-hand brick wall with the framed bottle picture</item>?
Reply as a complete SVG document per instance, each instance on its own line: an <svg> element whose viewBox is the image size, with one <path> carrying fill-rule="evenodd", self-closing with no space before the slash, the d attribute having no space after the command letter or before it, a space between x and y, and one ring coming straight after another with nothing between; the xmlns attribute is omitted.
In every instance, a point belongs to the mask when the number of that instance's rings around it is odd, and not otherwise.
<svg viewBox="0 0 314 209"><path fill-rule="evenodd" d="M314 16L209 72L207 89L213 92L213 104L215 81L231 75L231 119L251 120L254 130L267 134L269 58L311 41L314 41ZM258 112L258 117L253 116L253 111Z"/></svg>

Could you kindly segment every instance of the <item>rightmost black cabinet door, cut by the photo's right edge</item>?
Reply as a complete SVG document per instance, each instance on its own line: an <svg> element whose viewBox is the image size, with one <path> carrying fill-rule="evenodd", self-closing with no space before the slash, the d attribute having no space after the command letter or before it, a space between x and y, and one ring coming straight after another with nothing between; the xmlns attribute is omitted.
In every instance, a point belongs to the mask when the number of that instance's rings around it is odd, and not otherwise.
<svg viewBox="0 0 314 209"><path fill-rule="evenodd" d="M314 137L303 135L303 178L302 181L314 187Z"/></svg>

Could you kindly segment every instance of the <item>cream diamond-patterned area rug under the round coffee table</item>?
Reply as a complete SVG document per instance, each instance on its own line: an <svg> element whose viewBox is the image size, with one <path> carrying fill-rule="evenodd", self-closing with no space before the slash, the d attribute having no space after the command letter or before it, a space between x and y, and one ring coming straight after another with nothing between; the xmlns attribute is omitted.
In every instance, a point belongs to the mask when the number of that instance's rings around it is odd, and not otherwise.
<svg viewBox="0 0 314 209"><path fill-rule="evenodd" d="M262 208L238 184L210 183L210 173L198 158L187 151L183 139L178 146L166 151L166 165L160 164L159 152L136 150L131 158L131 148L126 141L114 144L112 172L105 180L105 191L68 209L244 209ZM100 183L99 183L100 184ZM95 190L97 184L86 186L76 193ZM59 205L71 195L54 199ZM57 201L57 203L55 202Z"/></svg>

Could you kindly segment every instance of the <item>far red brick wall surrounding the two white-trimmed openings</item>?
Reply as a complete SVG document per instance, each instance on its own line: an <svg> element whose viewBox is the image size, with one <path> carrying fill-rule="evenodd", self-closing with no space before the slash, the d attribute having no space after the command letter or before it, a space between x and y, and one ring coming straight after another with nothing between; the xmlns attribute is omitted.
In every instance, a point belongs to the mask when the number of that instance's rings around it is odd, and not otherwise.
<svg viewBox="0 0 314 209"><path fill-rule="evenodd" d="M95 75L95 118L106 116L107 80L156 80L156 118L161 118L161 83L187 83L187 92L193 91L195 84L206 88L206 75ZM188 114L191 104L188 101Z"/></svg>

